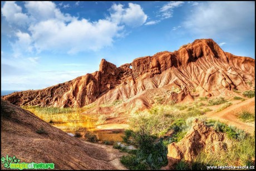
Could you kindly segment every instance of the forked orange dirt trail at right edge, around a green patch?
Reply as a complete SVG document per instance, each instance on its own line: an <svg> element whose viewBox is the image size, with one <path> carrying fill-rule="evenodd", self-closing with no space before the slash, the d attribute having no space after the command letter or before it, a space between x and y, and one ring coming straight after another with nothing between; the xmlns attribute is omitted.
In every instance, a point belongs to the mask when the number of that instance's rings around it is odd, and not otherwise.
<svg viewBox="0 0 256 171"><path fill-rule="evenodd" d="M211 112L205 114L205 116L209 119L216 119L222 122L225 122L229 125L235 125L239 129L243 129L248 133L253 133L255 130L254 123L245 123L242 120L237 118L237 114L242 111L249 111L255 114L255 99L250 98L245 100L244 102L240 102L235 105L231 105L230 107L221 110L220 112Z"/></svg>

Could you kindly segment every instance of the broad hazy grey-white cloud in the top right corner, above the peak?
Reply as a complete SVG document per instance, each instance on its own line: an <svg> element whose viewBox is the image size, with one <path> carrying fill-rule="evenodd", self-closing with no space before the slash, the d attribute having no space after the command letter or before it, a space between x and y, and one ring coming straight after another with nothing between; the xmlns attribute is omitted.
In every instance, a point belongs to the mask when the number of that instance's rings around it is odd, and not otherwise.
<svg viewBox="0 0 256 171"><path fill-rule="evenodd" d="M239 39L254 35L255 2L204 2L183 23L200 37Z"/></svg>

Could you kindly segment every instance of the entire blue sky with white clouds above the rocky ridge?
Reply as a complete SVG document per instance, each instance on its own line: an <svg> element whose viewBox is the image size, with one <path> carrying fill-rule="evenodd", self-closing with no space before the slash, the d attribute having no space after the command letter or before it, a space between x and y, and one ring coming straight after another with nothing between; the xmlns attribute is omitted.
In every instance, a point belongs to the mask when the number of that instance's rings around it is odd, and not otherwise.
<svg viewBox="0 0 256 171"><path fill-rule="evenodd" d="M255 58L255 2L1 2L1 89L41 89L212 38Z"/></svg>

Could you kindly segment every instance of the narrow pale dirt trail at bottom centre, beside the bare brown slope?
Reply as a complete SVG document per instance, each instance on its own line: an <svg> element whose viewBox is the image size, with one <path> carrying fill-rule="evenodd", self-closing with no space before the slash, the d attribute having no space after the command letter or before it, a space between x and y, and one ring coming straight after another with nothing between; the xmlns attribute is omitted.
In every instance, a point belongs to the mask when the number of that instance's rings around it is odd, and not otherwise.
<svg viewBox="0 0 256 171"><path fill-rule="evenodd" d="M122 163L120 162L120 157L125 155L126 153L120 152L118 149L114 149L112 145L105 145L99 143L90 143L83 140L88 145L91 145L95 149L101 149L102 153L106 153L109 156L109 160L105 160L109 164L113 165L118 170L128 170Z"/></svg>

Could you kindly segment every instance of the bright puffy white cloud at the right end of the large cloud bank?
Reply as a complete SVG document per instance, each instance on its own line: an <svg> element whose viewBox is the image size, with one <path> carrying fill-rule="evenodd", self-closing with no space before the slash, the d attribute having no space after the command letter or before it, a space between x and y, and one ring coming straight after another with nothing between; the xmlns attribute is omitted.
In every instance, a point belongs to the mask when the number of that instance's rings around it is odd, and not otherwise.
<svg viewBox="0 0 256 171"><path fill-rule="evenodd" d="M122 4L113 4L110 8L110 19L116 23L125 23L130 27L138 27L146 22L147 15L138 4L129 3L129 8Z"/></svg>

